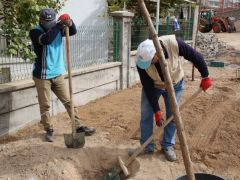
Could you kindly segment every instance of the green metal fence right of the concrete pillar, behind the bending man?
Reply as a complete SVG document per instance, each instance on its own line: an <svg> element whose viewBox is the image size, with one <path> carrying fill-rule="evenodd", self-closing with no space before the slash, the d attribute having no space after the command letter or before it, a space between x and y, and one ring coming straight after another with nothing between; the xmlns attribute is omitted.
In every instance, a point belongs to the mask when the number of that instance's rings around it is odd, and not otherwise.
<svg viewBox="0 0 240 180"><path fill-rule="evenodd" d="M182 40L192 39L193 19L179 20L180 30L174 32L173 22L169 18L159 24L158 36L175 34L177 38ZM139 43L149 38L149 30L147 24L142 19L133 19L132 21L132 36L131 50L136 50Z"/></svg>

